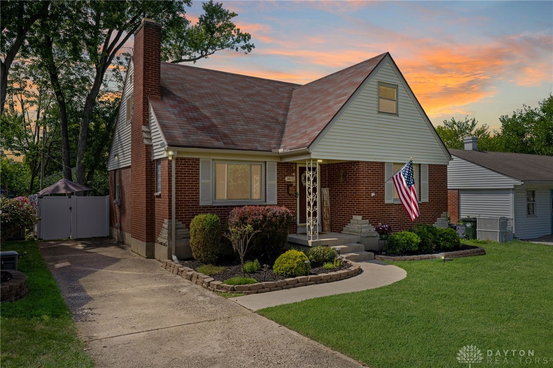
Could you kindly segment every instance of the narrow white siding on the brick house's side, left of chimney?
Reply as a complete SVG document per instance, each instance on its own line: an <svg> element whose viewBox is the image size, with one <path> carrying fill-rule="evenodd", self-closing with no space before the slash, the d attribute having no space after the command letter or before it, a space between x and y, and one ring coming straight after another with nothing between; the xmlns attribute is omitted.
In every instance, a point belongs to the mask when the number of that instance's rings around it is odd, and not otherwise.
<svg viewBox="0 0 553 368"><path fill-rule="evenodd" d="M131 123L127 122L127 97L133 95L132 75L133 63L131 62L129 64L125 86L123 87L121 103L119 104L115 132L113 133L111 150L109 151L108 170L131 166ZM117 160L115 159L116 155L118 156Z"/></svg>

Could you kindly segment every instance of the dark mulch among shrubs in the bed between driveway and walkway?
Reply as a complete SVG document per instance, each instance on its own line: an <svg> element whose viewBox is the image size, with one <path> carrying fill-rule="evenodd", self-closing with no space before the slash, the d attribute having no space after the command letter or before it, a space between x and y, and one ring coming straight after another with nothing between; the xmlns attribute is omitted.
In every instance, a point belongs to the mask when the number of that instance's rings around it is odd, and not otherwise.
<svg viewBox="0 0 553 368"><path fill-rule="evenodd" d="M180 262L183 266L190 267L194 271L197 271L197 267L203 265L201 262L196 261L196 260L184 260L184 261L181 260ZM216 281L225 281L228 278L231 278L231 277L234 277L234 276L242 276L242 265L239 262L238 263L226 262L226 263L223 263L223 264L217 264L217 266L223 266L223 267L225 267L225 270L221 271L217 275L212 275L211 276L211 277L215 278ZM311 266L312 267L311 267L311 271L309 272L309 275L328 274L328 272L338 271L338 269L340 269L340 267L335 267L332 270L327 270L327 269L325 269L325 267L322 267L322 264L316 264L316 263L312 264ZM342 270L347 269L347 267L349 267L349 266L350 266L350 264L349 264L348 261L343 261L341 269ZM261 270L261 271L254 272L253 274L244 274L244 277L254 278L255 280L257 280L259 282L279 281L279 280L284 280L286 278L286 277L283 277L283 276L280 276L280 275L275 275L273 273L273 270L271 270L271 269L269 269L269 271L267 271L267 275L265 275L265 280L263 280L263 274L264 274L264 272L263 272L263 270Z"/></svg>

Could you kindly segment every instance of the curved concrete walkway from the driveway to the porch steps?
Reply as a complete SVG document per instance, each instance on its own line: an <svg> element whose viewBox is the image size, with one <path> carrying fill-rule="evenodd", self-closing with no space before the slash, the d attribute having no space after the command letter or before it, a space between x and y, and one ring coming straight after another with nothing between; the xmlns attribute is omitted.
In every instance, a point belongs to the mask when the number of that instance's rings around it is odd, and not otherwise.
<svg viewBox="0 0 553 368"><path fill-rule="evenodd" d="M305 299L363 291L390 285L390 283L402 280L407 276L405 270L380 261L365 261L358 262L358 264L361 265L363 273L346 280L302 286L270 293L246 295L229 300L237 302L252 311L257 311L258 309L300 302Z"/></svg>

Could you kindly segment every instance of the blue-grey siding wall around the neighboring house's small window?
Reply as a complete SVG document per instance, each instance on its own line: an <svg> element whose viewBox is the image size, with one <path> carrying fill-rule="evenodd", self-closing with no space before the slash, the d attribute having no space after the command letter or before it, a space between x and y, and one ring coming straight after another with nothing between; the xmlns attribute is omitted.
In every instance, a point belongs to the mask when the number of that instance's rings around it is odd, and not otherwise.
<svg viewBox="0 0 553 368"><path fill-rule="evenodd" d="M536 191L536 215L526 215L526 190ZM551 189L531 186L515 190L515 236L538 238L551 234Z"/></svg>

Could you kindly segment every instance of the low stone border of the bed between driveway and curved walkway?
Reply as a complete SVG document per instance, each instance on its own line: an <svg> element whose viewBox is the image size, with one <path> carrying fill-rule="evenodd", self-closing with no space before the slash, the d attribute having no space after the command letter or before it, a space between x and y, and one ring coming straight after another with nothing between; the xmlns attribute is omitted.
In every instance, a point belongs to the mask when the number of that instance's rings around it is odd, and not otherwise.
<svg viewBox="0 0 553 368"><path fill-rule="evenodd" d="M237 292L243 293L244 295L333 282L356 276L361 273L361 266L353 264L347 269L336 272L328 272L328 274L291 277L286 278L285 280L257 282L252 283L251 285L226 285L222 281L215 281L215 279L211 276L200 274L200 272L196 272L190 267L182 266L181 264L171 260L162 261L161 267L175 275L186 278L186 280L189 280L196 285L200 285L207 290L227 293Z"/></svg>

